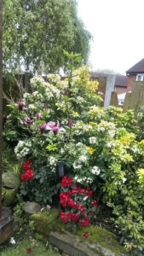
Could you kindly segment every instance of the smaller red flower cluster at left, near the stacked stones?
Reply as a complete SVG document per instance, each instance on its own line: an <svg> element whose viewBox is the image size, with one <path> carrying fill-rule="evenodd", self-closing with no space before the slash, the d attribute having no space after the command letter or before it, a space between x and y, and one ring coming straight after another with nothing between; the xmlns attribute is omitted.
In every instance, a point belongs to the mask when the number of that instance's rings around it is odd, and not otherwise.
<svg viewBox="0 0 144 256"><path fill-rule="evenodd" d="M22 170L25 171L24 173L20 174L20 181L26 182L33 179L33 172L34 170L31 168L32 161L26 160L23 165L21 166Z"/></svg>

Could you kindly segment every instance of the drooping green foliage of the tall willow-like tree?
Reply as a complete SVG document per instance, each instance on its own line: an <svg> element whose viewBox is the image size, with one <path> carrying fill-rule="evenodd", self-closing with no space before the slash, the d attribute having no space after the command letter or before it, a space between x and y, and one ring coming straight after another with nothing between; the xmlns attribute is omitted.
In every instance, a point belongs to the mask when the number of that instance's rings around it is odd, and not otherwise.
<svg viewBox="0 0 144 256"><path fill-rule="evenodd" d="M6 69L39 73L64 65L63 50L89 55L89 32L73 0L4 0L3 61Z"/></svg>

